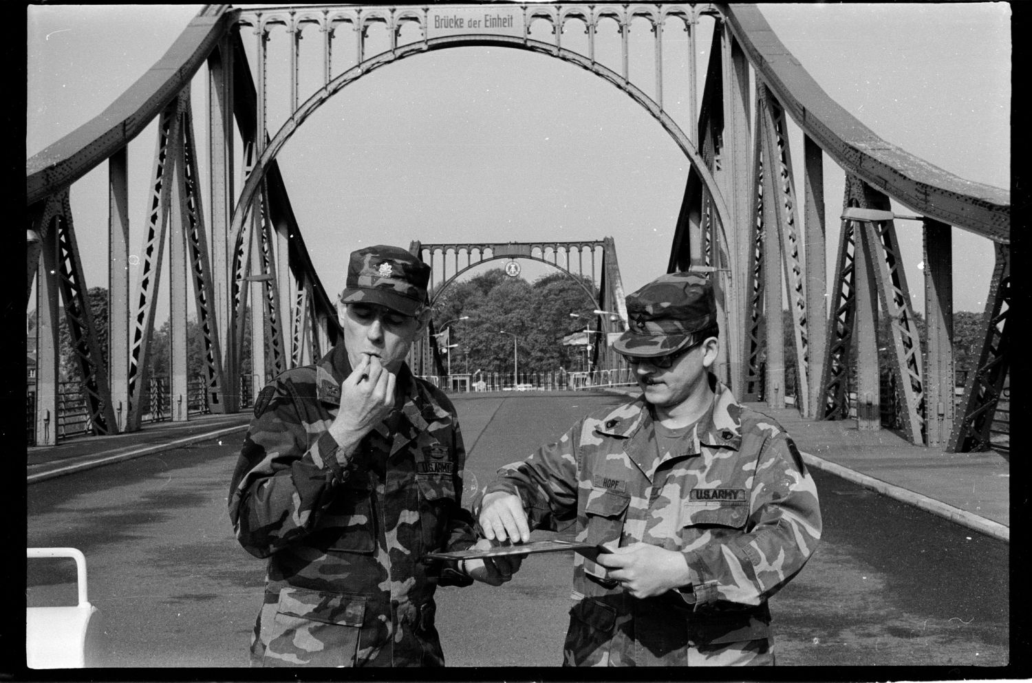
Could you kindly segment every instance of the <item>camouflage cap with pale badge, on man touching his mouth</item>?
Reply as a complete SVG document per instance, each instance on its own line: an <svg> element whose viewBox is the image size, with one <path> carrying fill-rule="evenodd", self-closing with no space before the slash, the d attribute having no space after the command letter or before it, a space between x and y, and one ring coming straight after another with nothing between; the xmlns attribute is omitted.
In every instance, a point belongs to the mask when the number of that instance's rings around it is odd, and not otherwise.
<svg viewBox="0 0 1032 683"><path fill-rule="evenodd" d="M351 253L342 303L378 303L407 316L427 303L430 266L400 247L378 245Z"/></svg>

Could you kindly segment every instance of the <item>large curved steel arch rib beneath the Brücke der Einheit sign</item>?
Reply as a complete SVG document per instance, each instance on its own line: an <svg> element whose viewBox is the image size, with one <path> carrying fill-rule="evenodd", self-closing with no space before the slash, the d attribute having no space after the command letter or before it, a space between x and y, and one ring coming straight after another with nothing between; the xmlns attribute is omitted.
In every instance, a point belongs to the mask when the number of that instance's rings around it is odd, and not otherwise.
<svg viewBox="0 0 1032 683"><path fill-rule="evenodd" d="M545 19L545 17L536 15L531 19ZM264 27L270 22L282 21L278 17L266 17L263 18L260 27L257 29L259 32L264 31ZM366 18L368 21L377 21L374 18ZM381 20L382 21L382 20ZM250 26L245 22L240 22L241 25ZM687 135L680 129L680 127L674 122L674 120L668 115L659 104L642 92L641 89L625 80L623 76L617 74L615 71L609 69L608 67L599 64L585 58L579 53L567 50L565 47L556 47L553 44L542 42L540 40L534 40L530 38L517 38L513 36L506 35L495 35L495 34L473 34L463 36L443 36L439 38L427 38L425 40L416 41L409 43L407 45L395 47L391 51L381 53L374 57L370 57L355 66L351 67L344 73L341 73L335 78L326 84L323 88L319 89L314 95L312 95L308 100L294 110L293 113L287 119L287 121L280 127L276 135L269 140L269 142L264 147L262 153L255 163L254 169L248 176L243 190L240 191L239 197L236 202L236 206L233 208L232 222L230 225L230 234L233 235L232 250L234 254L233 258L233 268L237 268L237 259L240 254L240 246L244 240L244 234L246 230L246 219L250 213L250 207L252 206L255 195L258 189L261 187L261 181L265 176L266 169L268 165L277 158L279 153L282 151L283 147L287 143L294 132L304 123L314 111L316 111L320 106L322 106L330 97L335 95L342 89L348 85L358 80L360 77L375 71L376 69L385 66L387 64L392 64L399 60L414 57L416 55L421 55L423 53L429 52L431 50L444 50L450 47L463 47L463 46L501 46L510 47L515 50L525 50L528 52L540 53L542 55L547 55L549 57L554 57L566 62L575 64L595 75L602 77L604 80L609 82L619 90L626 93L633 100L638 102L646 111L648 111L667 131L668 134L674 139L677 145L687 157L688 162L691 167L699 174L701 181L706 186L706 190L713 197L714 208L717 213L717 219L719 224L720 238L723 241L725 248L729 248L730 242L728 240L727 229L724 226L731 224L730 212L728 209L727 203L723 200L723 195L720 193L719 186L716 180L713 177L712 172L707 167L702 155L699 153L696 145L691 142Z"/></svg>

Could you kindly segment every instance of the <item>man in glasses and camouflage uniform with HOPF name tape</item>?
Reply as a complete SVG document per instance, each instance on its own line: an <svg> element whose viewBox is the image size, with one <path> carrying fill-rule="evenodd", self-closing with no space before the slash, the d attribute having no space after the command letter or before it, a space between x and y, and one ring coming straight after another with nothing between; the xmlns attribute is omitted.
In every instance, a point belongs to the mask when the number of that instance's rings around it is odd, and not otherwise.
<svg viewBox="0 0 1032 683"><path fill-rule="evenodd" d="M613 347L643 394L499 469L484 534L520 543L576 522L578 541L613 551L575 555L567 665L773 664L767 600L820 538L813 480L784 429L709 371L706 278L663 275L627 314Z"/></svg>

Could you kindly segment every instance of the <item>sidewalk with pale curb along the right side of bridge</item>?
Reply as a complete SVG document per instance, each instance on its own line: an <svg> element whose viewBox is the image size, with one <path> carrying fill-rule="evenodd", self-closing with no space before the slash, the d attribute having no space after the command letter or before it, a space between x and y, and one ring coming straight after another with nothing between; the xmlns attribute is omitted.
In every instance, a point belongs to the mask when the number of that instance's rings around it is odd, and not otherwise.
<svg viewBox="0 0 1032 683"><path fill-rule="evenodd" d="M613 390L638 395L637 388ZM856 420L807 421L794 408L768 415L792 434L807 466L1010 542L1010 462L987 453L943 453L888 429L861 431Z"/></svg>

